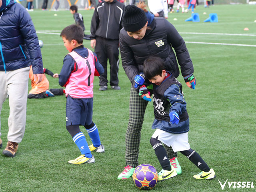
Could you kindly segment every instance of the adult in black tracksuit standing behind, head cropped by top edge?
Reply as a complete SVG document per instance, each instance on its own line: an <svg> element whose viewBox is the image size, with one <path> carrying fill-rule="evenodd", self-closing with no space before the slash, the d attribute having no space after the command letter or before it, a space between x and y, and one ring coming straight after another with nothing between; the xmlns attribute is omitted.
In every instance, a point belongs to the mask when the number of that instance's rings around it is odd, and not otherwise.
<svg viewBox="0 0 256 192"><path fill-rule="evenodd" d="M100 76L100 90L108 87L107 64L110 63L110 86L119 90L119 32L122 28L122 16L124 4L117 0L105 0L97 5L91 22L91 47L98 56L99 62L104 68L104 74Z"/></svg>

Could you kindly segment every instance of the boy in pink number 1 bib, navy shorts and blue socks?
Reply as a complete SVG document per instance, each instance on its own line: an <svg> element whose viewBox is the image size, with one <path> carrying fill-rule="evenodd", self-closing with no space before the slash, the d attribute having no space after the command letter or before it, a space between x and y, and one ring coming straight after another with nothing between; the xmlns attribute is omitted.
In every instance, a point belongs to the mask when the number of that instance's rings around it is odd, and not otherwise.
<svg viewBox="0 0 256 192"><path fill-rule="evenodd" d="M70 164L94 163L91 151L104 152L100 142L98 128L92 122L93 80L94 75L104 72L97 56L91 50L84 48L84 31L80 26L70 25L60 34L67 48L63 66L59 75L60 86L66 87L66 129L78 146L81 155L68 161ZM86 128L92 145L88 146L86 138L79 126Z"/></svg>

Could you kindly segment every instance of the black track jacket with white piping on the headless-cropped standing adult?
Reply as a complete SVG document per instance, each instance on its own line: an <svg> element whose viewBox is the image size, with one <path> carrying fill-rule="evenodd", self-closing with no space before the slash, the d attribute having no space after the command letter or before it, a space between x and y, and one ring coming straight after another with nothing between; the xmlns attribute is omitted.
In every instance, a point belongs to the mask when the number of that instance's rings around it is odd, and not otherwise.
<svg viewBox="0 0 256 192"><path fill-rule="evenodd" d="M102 1L94 10L91 22L91 39L96 36L106 39L119 39L122 28L124 4L114 0L111 3Z"/></svg>

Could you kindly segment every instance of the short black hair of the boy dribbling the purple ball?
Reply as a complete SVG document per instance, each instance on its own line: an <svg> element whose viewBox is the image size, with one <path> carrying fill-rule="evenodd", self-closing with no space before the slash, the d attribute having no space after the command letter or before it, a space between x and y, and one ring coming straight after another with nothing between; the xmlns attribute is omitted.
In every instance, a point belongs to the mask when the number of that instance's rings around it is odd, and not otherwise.
<svg viewBox="0 0 256 192"><path fill-rule="evenodd" d="M160 57L149 56L144 60L144 75L147 79L152 79L154 76L162 76L162 71L165 70L164 60Z"/></svg>

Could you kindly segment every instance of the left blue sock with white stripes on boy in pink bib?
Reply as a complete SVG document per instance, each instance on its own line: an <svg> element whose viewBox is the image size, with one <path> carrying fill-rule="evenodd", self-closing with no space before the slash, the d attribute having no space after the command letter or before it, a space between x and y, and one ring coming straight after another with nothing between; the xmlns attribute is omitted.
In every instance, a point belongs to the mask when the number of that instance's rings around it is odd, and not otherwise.
<svg viewBox="0 0 256 192"><path fill-rule="evenodd" d="M73 137L73 141L78 146L82 155L86 156L87 158L92 158L92 154L91 154L90 149L88 147L86 138L85 138L85 136L82 132L77 133Z"/></svg>

